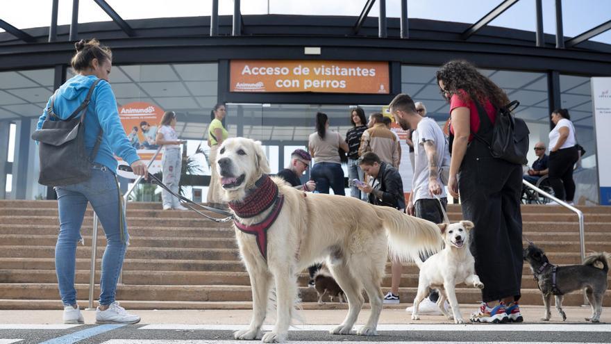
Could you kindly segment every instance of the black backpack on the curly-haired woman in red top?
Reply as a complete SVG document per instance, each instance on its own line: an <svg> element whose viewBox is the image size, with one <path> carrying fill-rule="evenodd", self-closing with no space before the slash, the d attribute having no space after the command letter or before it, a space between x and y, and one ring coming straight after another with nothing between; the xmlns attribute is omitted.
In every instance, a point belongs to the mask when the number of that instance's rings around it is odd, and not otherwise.
<svg viewBox="0 0 611 344"><path fill-rule="evenodd" d="M496 120L494 124L490 121L486 110L479 104L476 97L471 97L478 108L480 117L480 128L489 127L491 135L484 135L491 138L486 140L482 135L474 133L475 138L485 143L490 149L490 154L494 158L503 159L517 165L528 164L526 154L528 153L528 135L530 131L524 120L516 118L512 111L520 105L517 100L512 101L496 110ZM480 133L483 131L480 129Z"/></svg>

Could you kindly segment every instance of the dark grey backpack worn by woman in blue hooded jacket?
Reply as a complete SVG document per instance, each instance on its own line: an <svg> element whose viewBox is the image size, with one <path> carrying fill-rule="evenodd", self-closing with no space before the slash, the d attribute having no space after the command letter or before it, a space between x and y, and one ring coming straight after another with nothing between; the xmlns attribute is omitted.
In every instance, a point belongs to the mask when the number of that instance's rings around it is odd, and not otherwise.
<svg viewBox="0 0 611 344"><path fill-rule="evenodd" d="M91 164L102 141L100 131L91 156L85 151L85 114L91 95L99 79L91 85L87 97L66 120L53 113L57 91L51 97L47 119L42 129L32 134L39 142L40 175L38 183L45 186L67 186L87 181L91 177ZM76 117L83 111L81 117Z"/></svg>

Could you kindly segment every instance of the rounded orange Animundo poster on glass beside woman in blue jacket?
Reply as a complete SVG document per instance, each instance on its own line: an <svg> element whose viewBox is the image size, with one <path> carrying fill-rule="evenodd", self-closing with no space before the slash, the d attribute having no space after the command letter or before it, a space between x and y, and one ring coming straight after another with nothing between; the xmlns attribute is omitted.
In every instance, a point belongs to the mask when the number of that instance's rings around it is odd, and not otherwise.
<svg viewBox="0 0 611 344"><path fill-rule="evenodd" d="M159 106L142 101L119 106L119 118L121 118L123 129L144 163L151 161L158 149L158 145L155 145L155 139L164 112ZM149 167L150 173L157 173L162 170L161 154L160 151L151 167ZM122 158L117 157L117 160L119 164L127 165ZM120 170L119 175L131 179L134 177L133 174Z"/></svg>

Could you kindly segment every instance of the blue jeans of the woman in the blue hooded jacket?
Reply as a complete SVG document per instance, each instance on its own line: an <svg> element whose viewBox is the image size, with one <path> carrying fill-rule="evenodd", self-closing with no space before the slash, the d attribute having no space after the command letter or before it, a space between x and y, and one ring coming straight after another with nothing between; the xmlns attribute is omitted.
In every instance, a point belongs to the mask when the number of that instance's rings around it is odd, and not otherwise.
<svg viewBox="0 0 611 344"><path fill-rule="evenodd" d="M58 186L56 191L60 234L55 248L55 267L62 302L65 306L76 304L74 288L76 244L81 240L81 225L87 202L90 202L106 234L106 250L102 257L100 279L100 304L112 304L115 302L117 280L123 266L128 240L115 174L106 166L94 164L89 180L69 186ZM120 219L123 220L123 234Z"/></svg>

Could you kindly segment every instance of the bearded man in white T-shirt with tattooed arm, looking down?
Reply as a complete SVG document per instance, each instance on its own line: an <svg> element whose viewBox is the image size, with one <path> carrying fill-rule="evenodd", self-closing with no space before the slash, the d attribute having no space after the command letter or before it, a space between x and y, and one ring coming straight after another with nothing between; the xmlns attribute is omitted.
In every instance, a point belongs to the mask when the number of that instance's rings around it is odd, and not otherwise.
<svg viewBox="0 0 611 344"><path fill-rule="evenodd" d="M435 120L421 117L417 113L414 101L409 95L397 95L389 107L390 113L401 129L415 129L412 132L414 177L412 193L405 211L417 218L442 223L448 203L440 177L440 167L444 164L444 159L447 160L450 155L446 137ZM437 200L435 195L440 197L440 200ZM420 304L419 311L441 315L442 312L436 304L438 298L436 292L430 293L429 297Z"/></svg>

